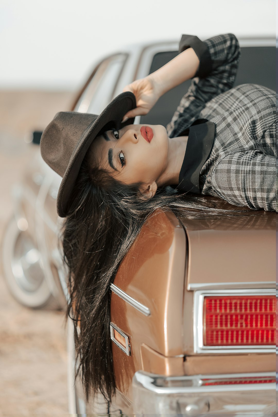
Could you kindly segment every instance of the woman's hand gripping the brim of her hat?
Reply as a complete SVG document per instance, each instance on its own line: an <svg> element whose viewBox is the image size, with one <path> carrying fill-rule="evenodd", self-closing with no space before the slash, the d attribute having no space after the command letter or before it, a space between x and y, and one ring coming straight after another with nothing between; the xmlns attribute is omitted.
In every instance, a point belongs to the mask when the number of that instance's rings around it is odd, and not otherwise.
<svg viewBox="0 0 278 417"><path fill-rule="evenodd" d="M137 107L125 114L122 123L132 117L148 114L161 95L158 83L151 74L126 85L123 89L123 92L125 91L131 91L135 95Z"/></svg>

